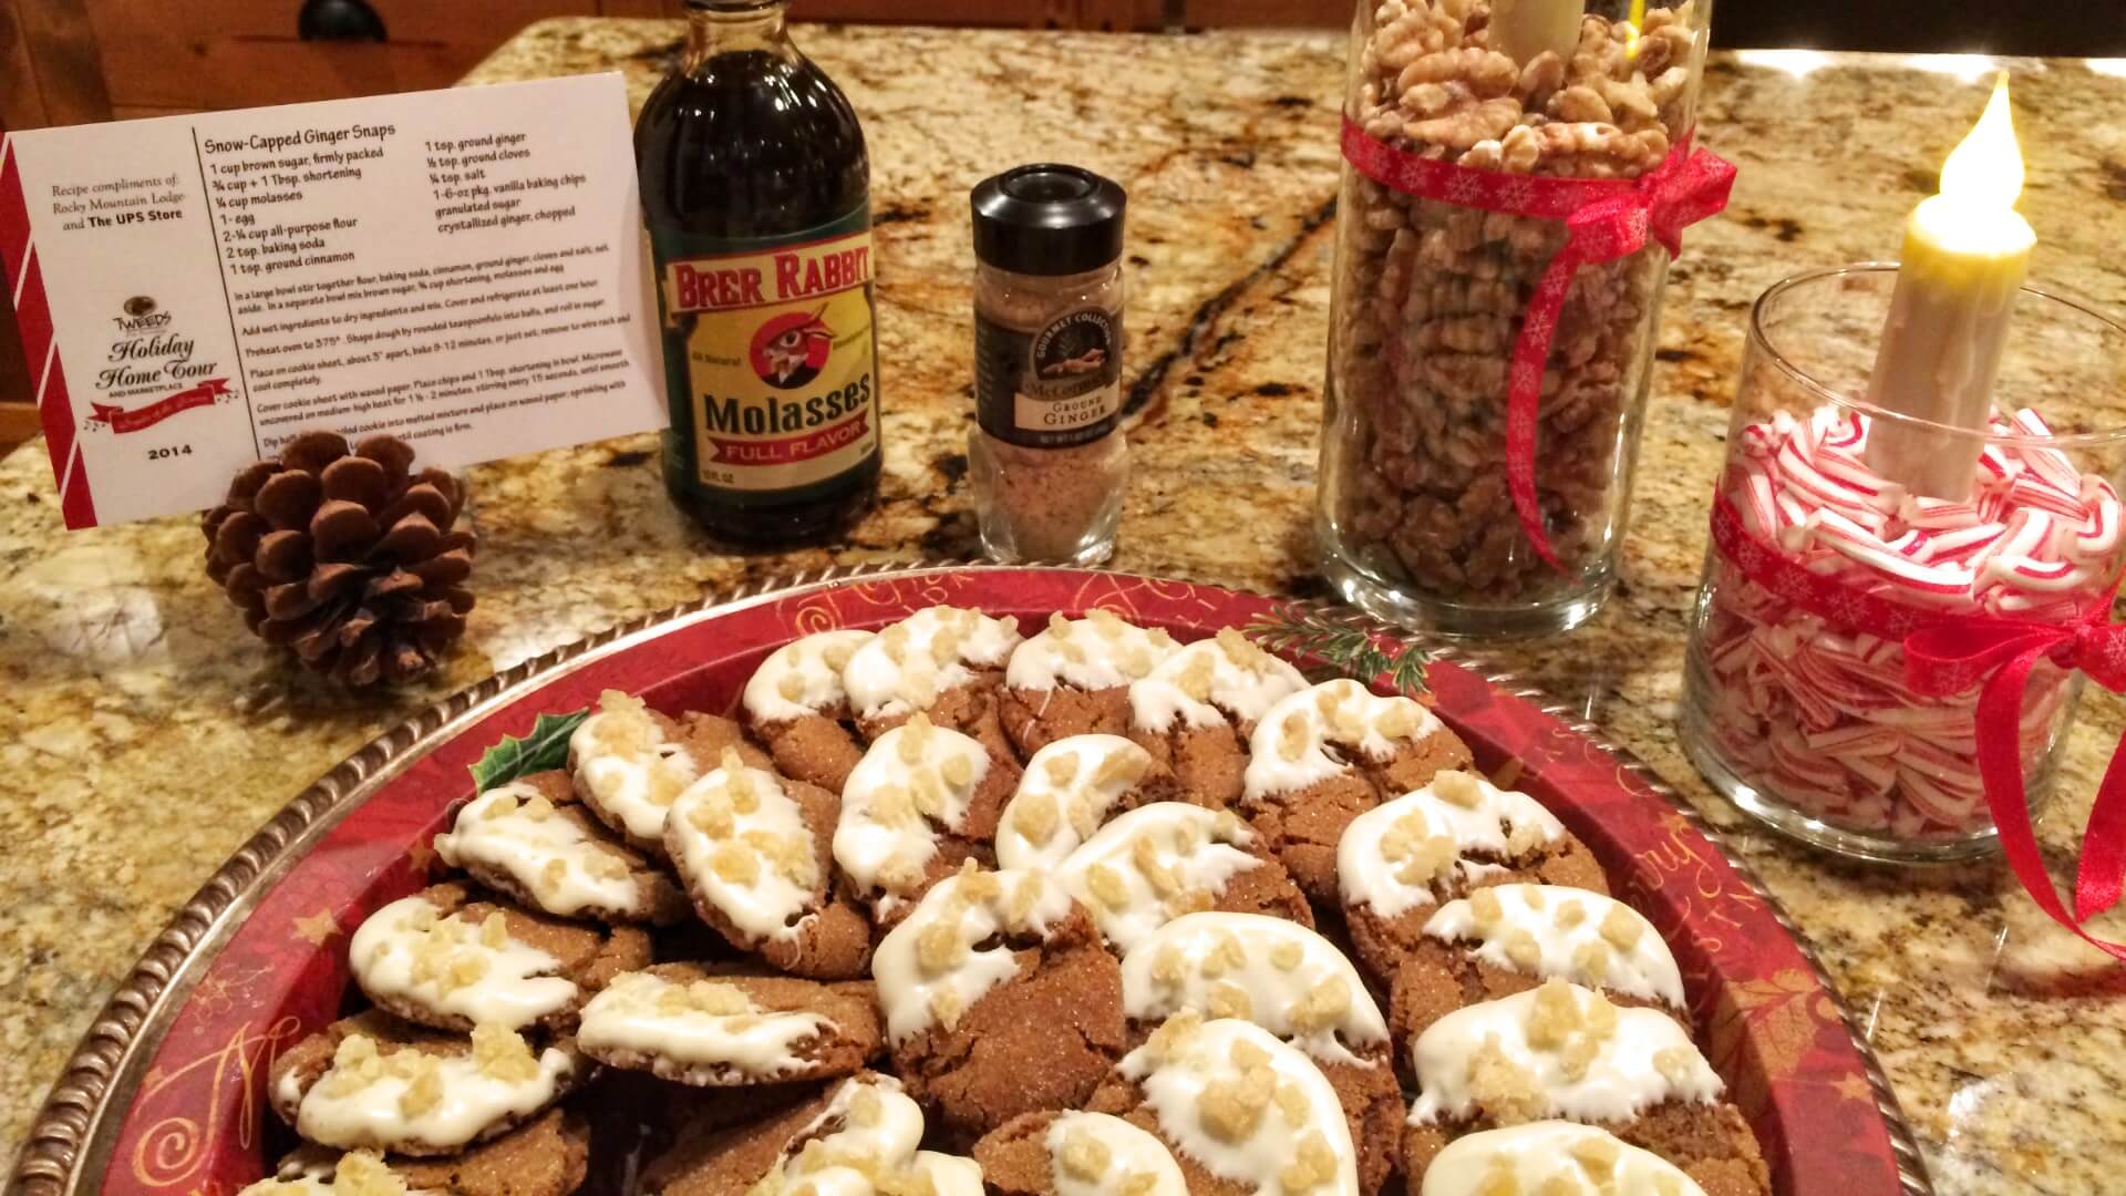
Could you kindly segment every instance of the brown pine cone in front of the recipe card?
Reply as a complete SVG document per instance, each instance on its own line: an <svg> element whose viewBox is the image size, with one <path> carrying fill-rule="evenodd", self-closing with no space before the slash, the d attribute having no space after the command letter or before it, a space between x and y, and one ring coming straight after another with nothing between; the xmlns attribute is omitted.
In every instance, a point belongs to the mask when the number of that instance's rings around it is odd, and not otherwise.
<svg viewBox="0 0 2126 1196"><path fill-rule="evenodd" d="M415 475L395 436L349 453L344 436L306 432L206 513L206 575L306 668L410 681L466 634L474 536L451 530L463 498L444 470Z"/></svg>

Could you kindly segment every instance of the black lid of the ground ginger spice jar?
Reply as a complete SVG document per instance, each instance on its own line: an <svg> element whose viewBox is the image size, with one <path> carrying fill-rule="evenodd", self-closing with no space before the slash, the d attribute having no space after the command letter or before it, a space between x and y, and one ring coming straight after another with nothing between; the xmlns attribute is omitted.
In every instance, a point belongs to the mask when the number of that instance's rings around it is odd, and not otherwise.
<svg viewBox="0 0 2126 1196"><path fill-rule="evenodd" d="M1084 275L1123 255L1129 196L1112 179L1037 162L974 189L974 255L1014 275Z"/></svg>

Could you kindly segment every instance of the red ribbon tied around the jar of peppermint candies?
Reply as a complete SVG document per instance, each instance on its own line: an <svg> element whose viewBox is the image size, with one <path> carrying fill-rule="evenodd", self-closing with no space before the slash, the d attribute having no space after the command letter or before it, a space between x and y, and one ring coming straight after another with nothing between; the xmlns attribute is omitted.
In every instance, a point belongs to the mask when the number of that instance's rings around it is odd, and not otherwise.
<svg viewBox="0 0 2126 1196"><path fill-rule="evenodd" d="M2030 798L2022 783L2022 696L2039 660L2073 668L2126 694L2126 624L2111 621L2109 594L2064 624L2037 624L2001 615L1943 615L1867 594L1811 572L1743 524L1726 494L1714 496L1714 551L1743 577L1809 611L1841 632L1867 632L1905 647L1905 685L1926 698L1979 690L1973 715L1986 809L2001 830L2001 849L2015 879L2054 921L2115 960L2126 945L2083 930L2083 921L2117 904L2126 892L2126 751L2111 755L2096 802L2081 832L2075 866L2075 909L2066 911L2045 873L2045 858L2030 826Z"/></svg>

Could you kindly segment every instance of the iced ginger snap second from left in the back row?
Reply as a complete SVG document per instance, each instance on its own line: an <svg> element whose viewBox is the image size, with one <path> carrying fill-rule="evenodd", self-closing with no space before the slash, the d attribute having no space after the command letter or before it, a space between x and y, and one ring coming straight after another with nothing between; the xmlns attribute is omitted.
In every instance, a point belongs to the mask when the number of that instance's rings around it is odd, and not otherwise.
<svg viewBox="0 0 2126 1196"><path fill-rule="evenodd" d="M997 687L1018 643L1016 621L957 607L927 607L880 630L842 668L857 730L876 743L921 711L1012 760Z"/></svg>

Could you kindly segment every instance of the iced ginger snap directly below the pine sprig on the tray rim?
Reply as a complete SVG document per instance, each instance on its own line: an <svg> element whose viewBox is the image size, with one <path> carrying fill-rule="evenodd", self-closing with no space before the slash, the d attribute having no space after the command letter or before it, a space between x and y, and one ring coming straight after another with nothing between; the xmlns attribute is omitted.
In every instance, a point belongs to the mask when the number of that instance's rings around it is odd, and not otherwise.
<svg viewBox="0 0 2126 1196"><path fill-rule="evenodd" d="M1333 902L1344 828L1384 798L1469 762L1424 704L1337 679L1269 709L1248 741L1239 813L1305 894Z"/></svg>

